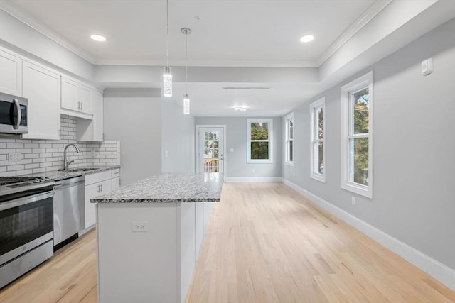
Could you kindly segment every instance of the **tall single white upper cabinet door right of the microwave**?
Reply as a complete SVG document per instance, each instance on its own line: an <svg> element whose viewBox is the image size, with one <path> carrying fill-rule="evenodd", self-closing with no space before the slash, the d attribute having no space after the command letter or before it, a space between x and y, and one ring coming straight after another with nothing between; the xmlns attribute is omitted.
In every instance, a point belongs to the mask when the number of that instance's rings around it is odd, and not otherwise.
<svg viewBox="0 0 455 303"><path fill-rule="evenodd" d="M28 99L28 133L22 138L60 139L60 75L25 60L22 75Z"/></svg>

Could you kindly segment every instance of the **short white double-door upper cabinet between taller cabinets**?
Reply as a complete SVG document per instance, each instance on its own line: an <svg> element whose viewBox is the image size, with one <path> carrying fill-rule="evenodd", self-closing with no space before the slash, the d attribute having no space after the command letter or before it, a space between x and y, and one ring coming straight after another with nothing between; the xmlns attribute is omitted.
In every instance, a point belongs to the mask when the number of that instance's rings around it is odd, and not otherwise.
<svg viewBox="0 0 455 303"><path fill-rule="evenodd" d="M95 89L62 77L62 114L92 119L92 99Z"/></svg>

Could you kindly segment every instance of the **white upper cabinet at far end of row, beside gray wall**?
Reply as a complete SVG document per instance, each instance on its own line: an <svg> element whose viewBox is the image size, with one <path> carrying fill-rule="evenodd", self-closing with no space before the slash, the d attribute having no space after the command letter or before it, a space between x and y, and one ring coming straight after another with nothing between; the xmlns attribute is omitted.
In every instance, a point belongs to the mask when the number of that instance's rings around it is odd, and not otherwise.
<svg viewBox="0 0 455 303"><path fill-rule="evenodd" d="M92 97L93 118L77 119L77 141L104 141L102 93L95 91Z"/></svg>

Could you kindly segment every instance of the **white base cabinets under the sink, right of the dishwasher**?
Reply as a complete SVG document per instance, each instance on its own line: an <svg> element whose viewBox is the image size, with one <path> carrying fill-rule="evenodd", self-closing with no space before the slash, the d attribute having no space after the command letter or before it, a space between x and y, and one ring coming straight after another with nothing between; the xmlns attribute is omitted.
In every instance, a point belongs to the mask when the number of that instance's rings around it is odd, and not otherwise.
<svg viewBox="0 0 455 303"><path fill-rule="evenodd" d="M85 176L85 228L91 228L95 226L96 222L96 211L95 203L90 203L90 199L93 199L102 194L107 194L112 190L112 172L117 171L117 177L120 179L120 170L107 170L105 172L97 172L94 174Z"/></svg>

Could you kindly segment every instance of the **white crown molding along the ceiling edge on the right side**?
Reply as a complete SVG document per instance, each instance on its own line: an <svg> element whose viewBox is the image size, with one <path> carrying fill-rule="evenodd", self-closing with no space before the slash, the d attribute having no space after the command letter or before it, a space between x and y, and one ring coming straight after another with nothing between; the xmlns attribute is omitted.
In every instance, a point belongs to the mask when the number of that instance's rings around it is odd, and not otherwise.
<svg viewBox="0 0 455 303"><path fill-rule="evenodd" d="M321 57L316 61L317 67L323 65L323 62L331 57L336 51L341 48L350 38L355 35L358 31L360 31L363 26L365 26L371 19L375 18L375 16L385 8L385 6L389 5L392 0L376 0L371 4L368 9L357 19L354 21L346 31L344 31L336 40L321 54Z"/></svg>

